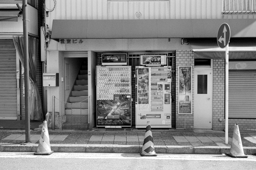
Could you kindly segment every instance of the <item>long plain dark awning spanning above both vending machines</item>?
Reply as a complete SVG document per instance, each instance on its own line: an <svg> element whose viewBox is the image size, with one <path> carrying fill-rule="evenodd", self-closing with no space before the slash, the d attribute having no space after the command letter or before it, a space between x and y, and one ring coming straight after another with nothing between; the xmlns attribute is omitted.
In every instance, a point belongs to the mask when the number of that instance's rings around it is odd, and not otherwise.
<svg viewBox="0 0 256 170"><path fill-rule="evenodd" d="M256 37L255 19L53 20L51 39L215 38L223 23L232 38Z"/></svg>

